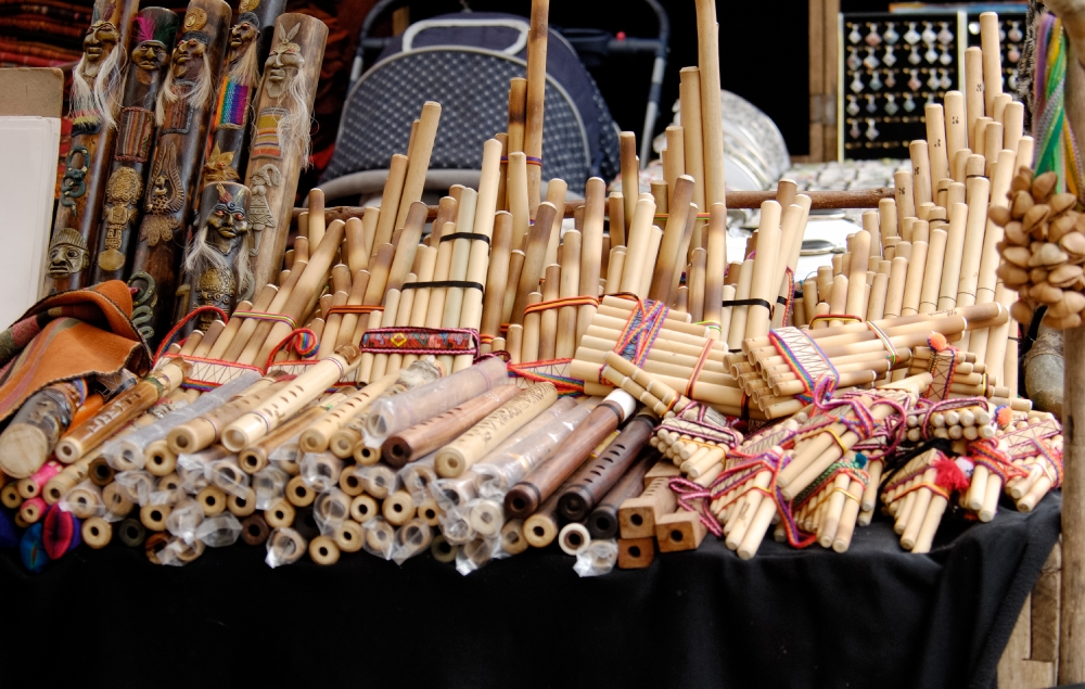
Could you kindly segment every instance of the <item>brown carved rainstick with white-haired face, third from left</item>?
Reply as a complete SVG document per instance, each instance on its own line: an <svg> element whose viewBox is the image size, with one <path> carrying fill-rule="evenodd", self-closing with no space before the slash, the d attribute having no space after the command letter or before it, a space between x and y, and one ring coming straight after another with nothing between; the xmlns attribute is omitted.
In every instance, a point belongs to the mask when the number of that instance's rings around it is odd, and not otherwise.
<svg viewBox="0 0 1085 689"><path fill-rule="evenodd" d="M168 330L174 312L186 227L197 192L229 23L230 5L222 0L189 3L183 34L155 104L158 138L128 280L140 290L133 320L151 341Z"/></svg>

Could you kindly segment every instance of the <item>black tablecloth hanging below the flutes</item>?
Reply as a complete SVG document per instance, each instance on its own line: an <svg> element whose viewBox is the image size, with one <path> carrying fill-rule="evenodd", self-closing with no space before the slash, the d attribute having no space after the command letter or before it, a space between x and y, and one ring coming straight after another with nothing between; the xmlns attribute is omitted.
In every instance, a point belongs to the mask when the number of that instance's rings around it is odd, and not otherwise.
<svg viewBox="0 0 1085 689"><path fill-rule="evenodd" d="M578 578L554 549L459 575L429 554L271 570L264 549L183 569L85 546L27 574L0 554L4 684L373 687L995 687L1059 534L1061 499L943 524L930 556L888 522L845 554L711 535L648 570Z"/></svg>

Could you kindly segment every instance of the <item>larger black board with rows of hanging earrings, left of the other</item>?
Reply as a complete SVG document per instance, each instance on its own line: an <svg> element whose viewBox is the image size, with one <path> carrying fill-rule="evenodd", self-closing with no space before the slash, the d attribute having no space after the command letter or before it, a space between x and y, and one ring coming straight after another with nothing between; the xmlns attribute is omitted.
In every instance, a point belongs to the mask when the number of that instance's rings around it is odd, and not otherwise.
<svg viewBox="0 0 1085 689"><path fill-rule="evenodd" d="M929 104L962 88L963 12L841 13L838 160L906 158Z"/></svg>

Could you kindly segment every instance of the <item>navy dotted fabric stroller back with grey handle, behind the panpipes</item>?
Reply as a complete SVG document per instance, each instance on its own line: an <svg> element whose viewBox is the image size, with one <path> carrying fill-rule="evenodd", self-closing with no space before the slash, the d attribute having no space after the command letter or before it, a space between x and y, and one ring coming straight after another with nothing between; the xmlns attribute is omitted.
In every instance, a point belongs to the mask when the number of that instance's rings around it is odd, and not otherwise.
<svg viewBox="0 0 1085 689"><path fill-rule="evenodd" d="M442 104L432 169L477 169L482 143L507 128L509 79L524 76L523 17L451 14L412 25L354 84L323 181L387 167L422 103ZM404 41L407 50L404 50ZM576 52L554 31L547 50L542 178L583 193L618 169L617 128Z"/></svg>

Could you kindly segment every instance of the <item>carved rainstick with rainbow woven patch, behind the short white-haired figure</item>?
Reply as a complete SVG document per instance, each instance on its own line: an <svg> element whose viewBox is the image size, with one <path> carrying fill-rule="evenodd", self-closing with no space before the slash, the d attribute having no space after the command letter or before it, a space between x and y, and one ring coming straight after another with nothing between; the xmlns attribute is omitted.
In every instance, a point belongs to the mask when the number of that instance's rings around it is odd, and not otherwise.
<svg viewBox="0 0 1085 689"><path fill-rule="evenodd" d="M241 180L248 162L250 111L260 88L264 63L275 38L275 21L286 0L241 0L230 28L226 65L210 118L212 149L204 161L203 184Z"/></svg>

